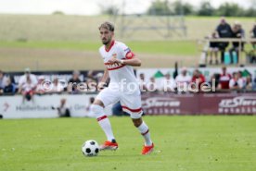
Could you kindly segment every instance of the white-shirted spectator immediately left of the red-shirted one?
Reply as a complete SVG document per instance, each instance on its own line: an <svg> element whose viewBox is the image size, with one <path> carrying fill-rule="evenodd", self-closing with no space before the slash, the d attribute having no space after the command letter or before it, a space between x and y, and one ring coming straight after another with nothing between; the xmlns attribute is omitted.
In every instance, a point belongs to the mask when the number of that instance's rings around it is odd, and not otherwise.
<svg viewBox="0 0 256 171"><path fill-rule="evenodd" d="M181 69L181 74L175 79L178 92L186 92L190 81L191 77L187 75L186 67L183 67Z"/></svg>

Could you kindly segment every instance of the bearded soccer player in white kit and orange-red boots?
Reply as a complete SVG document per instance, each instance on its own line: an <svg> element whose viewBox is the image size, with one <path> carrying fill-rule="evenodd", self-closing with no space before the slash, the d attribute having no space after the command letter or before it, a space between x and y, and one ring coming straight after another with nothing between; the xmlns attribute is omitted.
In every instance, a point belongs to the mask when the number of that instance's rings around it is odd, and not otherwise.
<svg viewBox="0 0 256 171"><path fill-rule="evenodd" d="M97 86L101 92L99 92L95 102L91 105L91 111L96 116L98 124L108 139L100 146L100 150L118 149L118 143L113 135L109 118L104 114L103 108L120 101L123 111L130 114L134 126L145 139L142 154L151 153L154 149L154 144L150 139L147 124L141 118L143 114L141 95L133 69L133 67L141 66L141 61L124 43L114 40L115 29L112 23L104 22L98 29L101 41L104 44L99 48L99 53L106 69ZM109 87L103 89L109 78Z"/></svg>

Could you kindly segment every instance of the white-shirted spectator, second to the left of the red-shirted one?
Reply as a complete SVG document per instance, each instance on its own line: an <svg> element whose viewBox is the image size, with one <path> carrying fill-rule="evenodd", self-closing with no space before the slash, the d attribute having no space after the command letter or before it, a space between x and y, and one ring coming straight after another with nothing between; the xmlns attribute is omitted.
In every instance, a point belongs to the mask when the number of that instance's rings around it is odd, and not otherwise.
<svg viewBox="0 0 256 171"><path fill-rule="evenodd" d="M169 73L165 74L164 79L160 82L160 91L162 92L174 92L176 88L176 82Z"/></svg>

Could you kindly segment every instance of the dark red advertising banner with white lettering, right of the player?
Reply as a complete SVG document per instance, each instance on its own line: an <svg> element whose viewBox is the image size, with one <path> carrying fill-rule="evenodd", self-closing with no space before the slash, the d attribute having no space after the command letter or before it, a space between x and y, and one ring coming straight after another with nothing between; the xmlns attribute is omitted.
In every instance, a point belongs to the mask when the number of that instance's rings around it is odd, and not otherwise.
<svg viewBox="0 0 256 171"><path fill-rule="evenodd" d="M142 107L147 115L253 115L256 114L256 92L150 92L142 94Z"/></svg>

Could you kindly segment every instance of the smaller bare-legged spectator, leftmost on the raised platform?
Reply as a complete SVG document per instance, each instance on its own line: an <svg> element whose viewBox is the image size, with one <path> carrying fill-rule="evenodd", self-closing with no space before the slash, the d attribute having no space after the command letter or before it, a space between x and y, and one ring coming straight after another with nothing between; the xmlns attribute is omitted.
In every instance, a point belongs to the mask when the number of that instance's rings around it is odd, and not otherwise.
<svg viewBox="0 0 256 171"><path fill-rule="evenodd" d="M212 32L211 34L211 39L217 39L217 33L216 31ZM212 64L212 56L214 55L215 58L215 64L218 65L219 64L219 60L218 60L218 52L219 52L219 43L211 41L210 44L210 61L209 64Z"/></svg>

